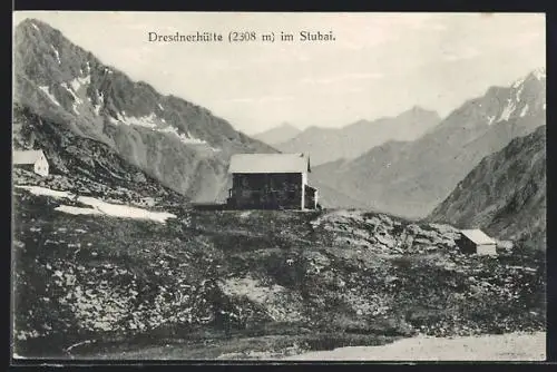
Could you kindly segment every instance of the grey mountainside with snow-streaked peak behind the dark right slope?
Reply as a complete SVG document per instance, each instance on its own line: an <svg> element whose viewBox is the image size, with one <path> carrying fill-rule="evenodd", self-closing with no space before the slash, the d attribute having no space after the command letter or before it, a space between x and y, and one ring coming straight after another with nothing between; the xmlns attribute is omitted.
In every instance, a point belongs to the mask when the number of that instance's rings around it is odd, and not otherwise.
<svg viewBox="0 0 557 372"><path fill-rule="evenodd" d="M388 141L353 160L314 167L312 178L360 206L421 218L487 155L546 123L545 70L489 88L413 141ZM336 205L342 206L342 205Z"/></svg>

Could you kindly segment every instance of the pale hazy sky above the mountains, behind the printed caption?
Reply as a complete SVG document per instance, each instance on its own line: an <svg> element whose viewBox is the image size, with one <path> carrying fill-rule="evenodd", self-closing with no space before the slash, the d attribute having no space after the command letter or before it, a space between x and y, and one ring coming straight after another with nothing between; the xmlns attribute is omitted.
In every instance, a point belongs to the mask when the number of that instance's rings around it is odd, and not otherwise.
<svg viewBox="0 0 557 372"><path fill-rule="evenodd" d="M247 134L283 121L339 127L422 106L446 116L491 85L545 67L535 13L17 12L104 63L207 107ZM149 42L148 32L281 31L292 42ZM332 42L297 41L333 31Z"/></svg>

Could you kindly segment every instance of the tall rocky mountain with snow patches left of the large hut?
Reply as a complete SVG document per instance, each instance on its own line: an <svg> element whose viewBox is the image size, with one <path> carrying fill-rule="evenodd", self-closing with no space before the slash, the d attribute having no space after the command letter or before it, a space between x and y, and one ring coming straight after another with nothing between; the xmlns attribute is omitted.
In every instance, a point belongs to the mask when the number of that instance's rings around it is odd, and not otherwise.
<svg viewBox="0 0 557 372"><path fill-rule="evenodd" d="M224 195L231 154L276 151L203 107L131 81L45 22L20 22L13 46L16 102L189 198Z"/></svg>

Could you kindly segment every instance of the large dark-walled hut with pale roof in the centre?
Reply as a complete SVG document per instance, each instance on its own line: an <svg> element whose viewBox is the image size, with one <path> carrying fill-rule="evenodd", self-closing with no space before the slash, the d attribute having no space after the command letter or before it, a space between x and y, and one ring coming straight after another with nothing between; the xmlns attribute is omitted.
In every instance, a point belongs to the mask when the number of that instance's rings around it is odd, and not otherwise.
<svg viewBox="0 0 557 372"><path fill-rule="evenodd" d="M227 205L238 209L315 209L317 189L307 184L305 154L237 154L231 158Z"/></svg>

